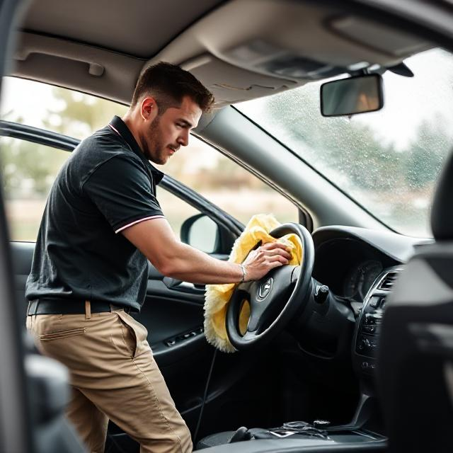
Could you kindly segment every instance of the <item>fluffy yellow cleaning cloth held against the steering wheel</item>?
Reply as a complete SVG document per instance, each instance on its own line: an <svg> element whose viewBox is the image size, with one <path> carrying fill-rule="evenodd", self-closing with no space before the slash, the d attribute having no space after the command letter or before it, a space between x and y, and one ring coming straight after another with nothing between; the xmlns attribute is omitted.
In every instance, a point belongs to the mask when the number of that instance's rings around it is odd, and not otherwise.
<svg viewBox="0 0 453 453"><path fill-rule="evenodd" d="M231 263L242 263L247 258L248 253L256 244L261 241L262 244L268 242L284 243L291 253L289 264L299 265L302 260L302 243L296 234L287 234L279 239L270 236L269 232L280 226L280 223L272 214L256 214L248 222L246 229L241 236L236 239L229 261ZM226 285L206 285L205 294L205 336L208 343L223 352L234 352L233 345L226 335L226 309L228 308L229 299L234 292L236 283ZM241 333L245 333L250 316L250 305L243 304L241 314L239 315L239 328Z"/></svg>

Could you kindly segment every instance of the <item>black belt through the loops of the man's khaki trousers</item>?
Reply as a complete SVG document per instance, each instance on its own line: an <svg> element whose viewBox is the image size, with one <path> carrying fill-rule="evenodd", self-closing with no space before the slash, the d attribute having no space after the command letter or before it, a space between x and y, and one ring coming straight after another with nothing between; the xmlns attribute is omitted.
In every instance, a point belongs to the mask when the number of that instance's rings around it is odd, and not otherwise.
<svg viewBox="0 0 453 453"><path fill-rule="evenodd" d="M85 314L84 299L34 299L28 303L28 316L34 314ZM90 301L91 313L124 310L130 312L130 306L109 304L108 302Z"/></svg>

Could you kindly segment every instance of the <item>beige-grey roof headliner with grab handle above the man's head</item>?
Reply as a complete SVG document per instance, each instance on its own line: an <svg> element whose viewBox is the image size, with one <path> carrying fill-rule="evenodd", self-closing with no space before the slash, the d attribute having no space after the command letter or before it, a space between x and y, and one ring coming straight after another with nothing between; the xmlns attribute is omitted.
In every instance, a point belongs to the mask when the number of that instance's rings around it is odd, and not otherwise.
<svg viewBox="0 0 453 453"><path fill-rule="evenodd" d="M219 107L431 47L335 2L290 0L33 0L17 42L14 76L127 104L140 71L167 61Z"/></svg>

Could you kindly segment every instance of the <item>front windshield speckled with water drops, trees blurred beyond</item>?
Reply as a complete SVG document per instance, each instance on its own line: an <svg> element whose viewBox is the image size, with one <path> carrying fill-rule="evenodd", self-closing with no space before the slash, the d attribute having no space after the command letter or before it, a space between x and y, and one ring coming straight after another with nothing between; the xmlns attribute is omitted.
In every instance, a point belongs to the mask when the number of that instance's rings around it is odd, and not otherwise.
<svg viewBox="0 0 453 453"><path fill-rule="evenodd" d="M395 231L432 236L430 205L453 141L453 57L406 59L413 77L386 71L384 108L322 117L321 82L236 105Z"/></svg>

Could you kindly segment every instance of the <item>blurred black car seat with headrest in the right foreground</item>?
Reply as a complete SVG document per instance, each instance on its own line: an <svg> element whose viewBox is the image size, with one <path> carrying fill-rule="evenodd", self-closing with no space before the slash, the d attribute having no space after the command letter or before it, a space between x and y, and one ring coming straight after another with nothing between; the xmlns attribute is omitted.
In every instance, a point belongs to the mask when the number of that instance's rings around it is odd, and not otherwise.
<svg viewBox="0 0 453 453"><path fill-rule="evenodd" d="M453 425L453 154L420 246L389 296L378 384L390 452L451 452Z"/></svg>

